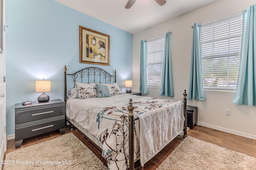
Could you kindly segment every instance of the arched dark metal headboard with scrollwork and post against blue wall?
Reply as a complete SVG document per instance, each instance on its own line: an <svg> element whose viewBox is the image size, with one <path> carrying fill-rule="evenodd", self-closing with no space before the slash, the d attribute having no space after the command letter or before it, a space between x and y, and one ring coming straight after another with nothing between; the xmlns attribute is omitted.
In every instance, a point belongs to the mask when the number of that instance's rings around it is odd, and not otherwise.
<svg viewBox="0 0 256 170"><path fill-rule="evenodd" d="M74 82L74 87L76 87L76 82L83 83L83 81L87 81L86 83L112 83L112 79L114 77L114 82L116 83L116 70L115 75L111 75L104 69L98 67L86 67L84 69L80 69L72 74L67 74L67 67L64 66L64 100L67 101L67 76L72 78ZM90 82L92 80L92 82ZM98 82L96 82L98 81ZM103 82L102 82L103 81ZM84 82L85 83L85 82Z"/></svg>

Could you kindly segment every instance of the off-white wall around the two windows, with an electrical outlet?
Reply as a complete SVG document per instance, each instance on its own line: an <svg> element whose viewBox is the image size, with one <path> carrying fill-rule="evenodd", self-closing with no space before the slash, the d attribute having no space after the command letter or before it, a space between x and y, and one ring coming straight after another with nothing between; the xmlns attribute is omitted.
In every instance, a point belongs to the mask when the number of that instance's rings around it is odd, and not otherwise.
<svg viewBox="0 0 256 170"><path fill-rule="evenodd" d="M133 91L139 91L140 40L152 39L172 32L172 70L174 97L182 100L184 89L188 89L190 57L192 46L192 28L194 23L206 23L218 18L241 12L255 4L255 0L218 0L182 16L148 28L133 35ZM148 89L148 96L158 95L160 88ZM256 107L235 105L232 103L234 92L204 91L205 101L188 100L188 105L198 107L198 125L256 139ZM225 109L231 109L231 116L225 116Z"/></svg>

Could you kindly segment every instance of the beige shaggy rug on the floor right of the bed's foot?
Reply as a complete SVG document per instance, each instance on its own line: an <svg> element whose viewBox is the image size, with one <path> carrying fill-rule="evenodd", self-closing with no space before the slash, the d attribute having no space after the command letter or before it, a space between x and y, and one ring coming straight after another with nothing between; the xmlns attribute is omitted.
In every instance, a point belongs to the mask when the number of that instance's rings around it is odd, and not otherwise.
<svg viewBox="0 0 256 170"><path fill-rule="evenodd" d="M188 136L158 170L256 170L256 158Z"/></svg>

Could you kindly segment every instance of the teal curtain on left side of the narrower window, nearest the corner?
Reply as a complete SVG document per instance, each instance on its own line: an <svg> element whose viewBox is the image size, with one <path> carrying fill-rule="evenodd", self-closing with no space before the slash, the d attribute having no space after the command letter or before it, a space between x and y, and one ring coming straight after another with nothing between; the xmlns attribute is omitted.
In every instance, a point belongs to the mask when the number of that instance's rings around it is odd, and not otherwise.
<svg viewBox="0 0 256 170"><path fill-rule="evenodd" d="M148 94L147 86L147 41L140 41L140 89L142 94Z"/></svg>

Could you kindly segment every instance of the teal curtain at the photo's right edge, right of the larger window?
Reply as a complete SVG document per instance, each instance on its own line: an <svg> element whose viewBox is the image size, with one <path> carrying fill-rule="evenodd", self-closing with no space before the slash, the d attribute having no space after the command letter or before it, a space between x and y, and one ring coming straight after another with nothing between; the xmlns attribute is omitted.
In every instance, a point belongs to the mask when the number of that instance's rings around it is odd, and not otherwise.
<svg viewBox="0 0 256 170"><path fill-rule="evenodd" d="M256 4L243 12L241 56L233 103L256 106Z"/></svg>

